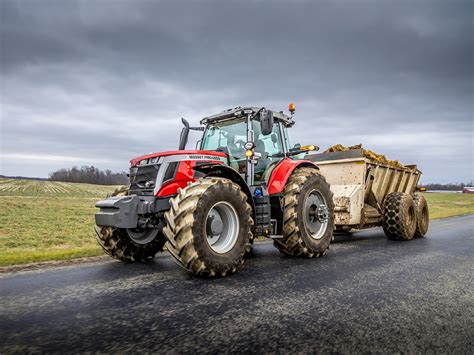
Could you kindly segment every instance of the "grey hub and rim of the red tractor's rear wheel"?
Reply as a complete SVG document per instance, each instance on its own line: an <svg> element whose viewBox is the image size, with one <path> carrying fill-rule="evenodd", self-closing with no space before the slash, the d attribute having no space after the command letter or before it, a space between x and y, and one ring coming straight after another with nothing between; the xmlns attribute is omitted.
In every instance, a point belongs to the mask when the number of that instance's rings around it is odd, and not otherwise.
<svg viewBox="0 0 474 355"><path fill-rule="evenodd" d="M304 222L311 238L321 239L328 228L329 210L324 196L317 190L312 190L304 204Z"/></svg>

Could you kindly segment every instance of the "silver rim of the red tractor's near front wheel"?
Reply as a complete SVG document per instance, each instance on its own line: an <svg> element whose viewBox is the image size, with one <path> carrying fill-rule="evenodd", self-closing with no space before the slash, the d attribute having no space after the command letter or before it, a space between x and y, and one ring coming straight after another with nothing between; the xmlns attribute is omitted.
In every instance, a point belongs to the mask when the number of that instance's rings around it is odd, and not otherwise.
<svg viewBox="0 0 474 355"><path fill-rule="evenodd" d="M206 217L206 239L213 251L227 253L237 242L239 218L235 208L220 201L211 207Z"/></svg>

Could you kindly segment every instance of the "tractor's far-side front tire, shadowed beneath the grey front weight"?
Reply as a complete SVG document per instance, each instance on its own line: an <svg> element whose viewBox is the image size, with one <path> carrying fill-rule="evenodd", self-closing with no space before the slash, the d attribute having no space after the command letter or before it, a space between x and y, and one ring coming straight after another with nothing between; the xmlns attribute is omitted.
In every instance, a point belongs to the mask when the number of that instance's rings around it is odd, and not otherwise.
<svg viewBox="0 0 474 355"><path fill-rule="evenodd" d="M128 186L123 186L117 188L110 196L126 196L127 194ZM156 253L163 251L166 243L162 231L154 232L150 230L148 233L156 233L156 236L146 243L135 242L130 235L136 236L137 232L123 228L96 225L95 232L96 240L102 249L111 257L123 262L143 262L152 259Z"/></svg>

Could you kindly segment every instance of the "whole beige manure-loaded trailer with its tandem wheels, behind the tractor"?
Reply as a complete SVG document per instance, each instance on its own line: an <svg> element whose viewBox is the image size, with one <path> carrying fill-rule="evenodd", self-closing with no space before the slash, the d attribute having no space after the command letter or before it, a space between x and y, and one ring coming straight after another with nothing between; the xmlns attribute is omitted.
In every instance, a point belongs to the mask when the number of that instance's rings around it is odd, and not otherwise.
<svg viewBox="0 0 474 355"><path fill-rule="evenodd" d="M416 165L384 164L367 158L363 149L308 154L305 159L317 164L331 186L336 230L383 226L392 239L426 234L428 206L415 193L421 177ZM395 229L402 233L391 233Z"/></svg>

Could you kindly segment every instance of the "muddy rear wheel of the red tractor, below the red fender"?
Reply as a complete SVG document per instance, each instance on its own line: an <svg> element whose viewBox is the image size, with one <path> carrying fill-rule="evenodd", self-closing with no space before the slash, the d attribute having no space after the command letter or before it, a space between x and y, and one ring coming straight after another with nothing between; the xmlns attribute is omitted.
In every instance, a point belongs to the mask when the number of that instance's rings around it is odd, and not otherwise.
<svg viewBox="0 0 474 355"><path fill-rule="evenodd" d="M283 237L273 244L282 253L299 257L326 254L334 232L334 202L329 184L318 170L300 168L283 192Z"/></svg>

